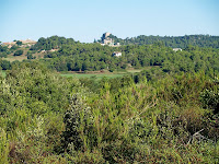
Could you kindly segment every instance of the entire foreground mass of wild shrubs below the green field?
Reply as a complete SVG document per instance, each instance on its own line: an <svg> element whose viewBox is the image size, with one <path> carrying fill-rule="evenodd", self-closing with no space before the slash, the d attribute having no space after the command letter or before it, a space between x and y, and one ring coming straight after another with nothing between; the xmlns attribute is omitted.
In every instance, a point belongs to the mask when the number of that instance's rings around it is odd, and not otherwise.
<svg viewBox="0 0 219 164"><path fill-rule="evenodd" d="M96 81L16 63L0 79L1 160L218 163L219 119L209 110L217 106L218 82L211 74L155 68Z"/></svg>

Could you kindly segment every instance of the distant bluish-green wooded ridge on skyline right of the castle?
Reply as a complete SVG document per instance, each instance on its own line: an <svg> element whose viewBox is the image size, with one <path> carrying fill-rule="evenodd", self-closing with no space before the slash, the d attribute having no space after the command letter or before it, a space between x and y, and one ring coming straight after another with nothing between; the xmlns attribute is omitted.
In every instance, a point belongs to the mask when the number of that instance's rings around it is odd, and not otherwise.
<svg viewBox="0 0 219 164"><path fill-rule="evenodd" d="M210 35L185 35L185 36L145 36L140 35L131 38L118 38L114 35L110 35L114 43L120 43L120 45L150 45L154 43L162 43L164 46L172 48L186 48L188 45L198 47L212 47L219 48L219 36Z"/></svg>

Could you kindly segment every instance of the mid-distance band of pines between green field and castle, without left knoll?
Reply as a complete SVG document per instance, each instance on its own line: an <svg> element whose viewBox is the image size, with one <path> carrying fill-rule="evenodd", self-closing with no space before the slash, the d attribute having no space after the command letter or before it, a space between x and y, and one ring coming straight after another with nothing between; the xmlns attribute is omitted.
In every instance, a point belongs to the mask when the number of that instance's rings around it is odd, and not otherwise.
<svg viewBox="0 0 219 164"><path fill-rule="evenodd" d="M114 51L122 51L122 57L113 57ZM129 45L120 47L99 44L78 44L64 46L56 52L45 56L44 62L57 71L94 71L108 69L162 67L163 71L198 71L200 69L219 70L219 50L188 46L182 51L173 51L162 44ZM47 60L46 58L53 58Z"/></svg>

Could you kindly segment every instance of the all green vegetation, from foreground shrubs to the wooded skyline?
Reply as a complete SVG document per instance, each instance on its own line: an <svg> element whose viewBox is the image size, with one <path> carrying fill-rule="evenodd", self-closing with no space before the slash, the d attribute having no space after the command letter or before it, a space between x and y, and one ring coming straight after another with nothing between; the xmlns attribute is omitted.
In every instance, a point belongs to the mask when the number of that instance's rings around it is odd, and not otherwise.
<svg viewBox="0 0 219 164"><path fill-rule="evenodd" d="M219 37L111 37L0 45L0 163L219 163Z"/></svg>

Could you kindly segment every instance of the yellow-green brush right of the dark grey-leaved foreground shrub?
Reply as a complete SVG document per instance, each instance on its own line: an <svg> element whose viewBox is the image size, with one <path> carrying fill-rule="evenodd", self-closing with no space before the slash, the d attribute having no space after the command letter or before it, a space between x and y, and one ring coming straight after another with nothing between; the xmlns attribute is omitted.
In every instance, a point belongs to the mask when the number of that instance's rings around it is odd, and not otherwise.
<svg viewBox="0 0 219 164"><path fill-rule="evenodd" d="M95 155L92 150L97 148L110 163L217 163L219 131L199 102L200 92L211 84L203 73L132 83L116 92L106 82L99 96L88 99L94 125L81 138L96 139L96 145L87 147L85 153ZM200 129L203 141L193 137ZM87 155L69 160L80 163Z"/></svg>

